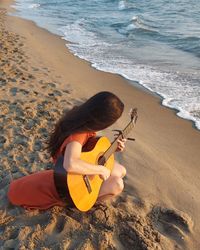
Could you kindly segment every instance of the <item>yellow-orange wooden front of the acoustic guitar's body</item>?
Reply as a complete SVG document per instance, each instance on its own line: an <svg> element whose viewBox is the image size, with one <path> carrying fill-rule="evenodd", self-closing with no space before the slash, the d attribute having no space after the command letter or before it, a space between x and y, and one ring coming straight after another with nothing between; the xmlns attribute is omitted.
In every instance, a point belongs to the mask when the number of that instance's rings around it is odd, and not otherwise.
<svg viewBox="0 0 200 250"><path fill-rule="evenodd" d="M81 159L85 162L100 165L99 160L111 143L107 137L97 139L95 146L88 152L81 153ZM114 155L112 154L105 162L104 166L112 171L114 166ZM89 182L88 188L85 178ZM69 174L67 173L67 185L69 194L80 211L88 211L96 202L103 180L99 175Z"/></svg>

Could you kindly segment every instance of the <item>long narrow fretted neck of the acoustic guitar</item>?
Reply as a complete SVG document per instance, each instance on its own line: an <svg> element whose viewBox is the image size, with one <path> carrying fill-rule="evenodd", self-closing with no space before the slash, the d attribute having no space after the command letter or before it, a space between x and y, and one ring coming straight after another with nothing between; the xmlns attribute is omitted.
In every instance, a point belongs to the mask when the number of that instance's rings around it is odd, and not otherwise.
<svg viewBox="0 0 200 250"><path fill-rule="evenodd" d="M115 138L115 140L112 142L111 146L103 154L103 158L105 161L107 161L109 159L109 157L116 151L116 149L118 147L117 141L119 139L123 139L123 138L127 137L129 132L131 131L131 129L135 126L135 122L136 122L136 120L134 122L130 121L129 124L125 127L125 129L122 130L120 132L120 134Z"/></svg>

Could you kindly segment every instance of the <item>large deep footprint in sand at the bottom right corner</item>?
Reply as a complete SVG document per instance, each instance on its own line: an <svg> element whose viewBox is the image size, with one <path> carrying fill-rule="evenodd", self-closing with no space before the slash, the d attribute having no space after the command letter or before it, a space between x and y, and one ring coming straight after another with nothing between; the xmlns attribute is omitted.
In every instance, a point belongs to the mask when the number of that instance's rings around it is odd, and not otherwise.
<svg viewBox="0 0 200 250"><path fill-rule="evenodd" d="M150 218L156 230L161 234L176 241L179 245L185 244L185 237L191 232L193 225L187 214L156 206L152 209Z"/></svg>

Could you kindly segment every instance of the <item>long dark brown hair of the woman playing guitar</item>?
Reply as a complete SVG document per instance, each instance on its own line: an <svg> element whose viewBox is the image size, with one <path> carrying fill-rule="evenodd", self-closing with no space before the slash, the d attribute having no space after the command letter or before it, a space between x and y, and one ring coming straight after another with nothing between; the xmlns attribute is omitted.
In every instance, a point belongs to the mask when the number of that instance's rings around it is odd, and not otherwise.
<svg viewBox="0 0 200 250"><path fill-rule="evenodd" d="M122 114L124 104L113 93L103 91L65 113L50 135L48 147L54 156L64 140L77 132L95 132L112 125Z"/></svg>

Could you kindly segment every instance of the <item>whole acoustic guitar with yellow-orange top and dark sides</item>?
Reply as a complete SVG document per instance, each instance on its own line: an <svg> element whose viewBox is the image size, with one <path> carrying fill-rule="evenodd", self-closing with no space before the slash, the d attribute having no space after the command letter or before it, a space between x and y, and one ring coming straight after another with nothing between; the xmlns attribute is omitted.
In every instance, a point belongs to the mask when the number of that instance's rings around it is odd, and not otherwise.
<svg viewBox="0 0 200 250"><path fill-rule="evenodd" d="M88 143L83 147L80 156L81 160L95 165L104 165L112 171L114 166L114 152L118 147L117 140L126 138L135 126L138 117L137 109L133 109L130 115L131 121L124 130L115 130L119 134L112 143L104 136L88 140ZM134 140L131 138L128 139ZM86 212L95 204L103 180L99 175L67 173L63 168L63 158L63 156L59 157L54 168L54 181L57 191L62 198L66 199L66 202L75 206L80 211ZM64 194L63 189L66 189Z"/></svg>

